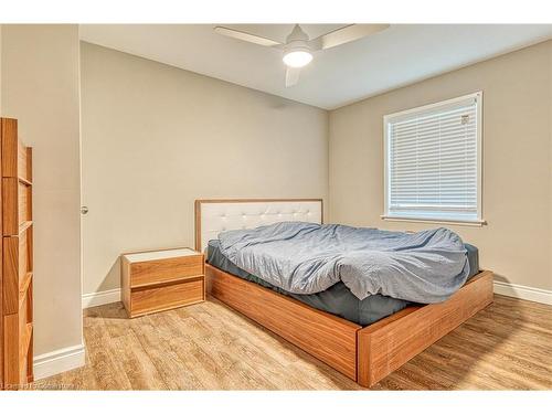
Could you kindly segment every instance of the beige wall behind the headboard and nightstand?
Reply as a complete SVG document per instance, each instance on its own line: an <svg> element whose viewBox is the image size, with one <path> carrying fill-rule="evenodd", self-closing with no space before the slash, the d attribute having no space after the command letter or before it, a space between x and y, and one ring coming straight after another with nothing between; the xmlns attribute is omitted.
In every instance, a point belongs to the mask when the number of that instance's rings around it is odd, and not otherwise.
<svg viewBox="0 0 552 414"><path fill-rule="evenodd" d="M82 43L85 294L123 252L193 245L199 198L323 197L328 114Z"/></svg>

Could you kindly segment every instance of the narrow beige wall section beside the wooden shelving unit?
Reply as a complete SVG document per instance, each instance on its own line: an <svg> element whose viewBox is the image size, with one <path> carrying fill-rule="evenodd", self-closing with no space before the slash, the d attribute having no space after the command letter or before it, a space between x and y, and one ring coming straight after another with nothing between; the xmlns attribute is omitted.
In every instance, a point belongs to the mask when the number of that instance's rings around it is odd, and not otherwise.
<svg viewBox="0 0 552 414"><path fill-rule="evenodd" d="M2 115L33 147L35 355L82 343L78 28L2 26Z"/></svg>

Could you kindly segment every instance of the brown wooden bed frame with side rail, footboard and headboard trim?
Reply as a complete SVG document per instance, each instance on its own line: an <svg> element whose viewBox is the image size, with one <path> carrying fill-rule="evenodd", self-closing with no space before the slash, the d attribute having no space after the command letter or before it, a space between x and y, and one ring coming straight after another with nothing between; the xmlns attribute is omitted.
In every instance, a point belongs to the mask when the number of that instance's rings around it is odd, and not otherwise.
<svg viewBox="0 0 552 414"><path fill-rule="evenodd" d="M197 200L197 250L202 204L257 201L299 200ZM205 278L211 296L367 388L492 302L492 273L482 270L444 302L410 306L363 328L209 264Z"/></svg>

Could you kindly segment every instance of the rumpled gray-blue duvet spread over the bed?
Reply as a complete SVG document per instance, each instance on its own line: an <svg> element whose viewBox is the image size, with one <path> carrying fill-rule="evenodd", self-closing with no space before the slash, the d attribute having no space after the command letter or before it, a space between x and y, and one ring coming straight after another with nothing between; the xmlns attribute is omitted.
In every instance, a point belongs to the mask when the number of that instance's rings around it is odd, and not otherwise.
<svg viewBox="0 0 552 414"><path fill-rule="evenodd" d="M447 299L469 274L460 237L339 224L284 222L219 235L237 267L293 294L316 294L338 282L359 299L381 294L421 304Z"/></svg>

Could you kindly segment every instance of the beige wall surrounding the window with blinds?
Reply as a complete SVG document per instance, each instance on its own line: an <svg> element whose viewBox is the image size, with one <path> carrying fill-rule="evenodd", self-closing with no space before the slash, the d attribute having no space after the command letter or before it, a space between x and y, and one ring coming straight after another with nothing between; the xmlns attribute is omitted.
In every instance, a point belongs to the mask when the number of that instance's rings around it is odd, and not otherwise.
<svg viewBox="0 0 552 414"><path fill-rule="evenodd" d="M330 220L382 229L382 117L484 92L484 227L450 226L499 280L552 288L552 41L330 113Z"/></svg>

